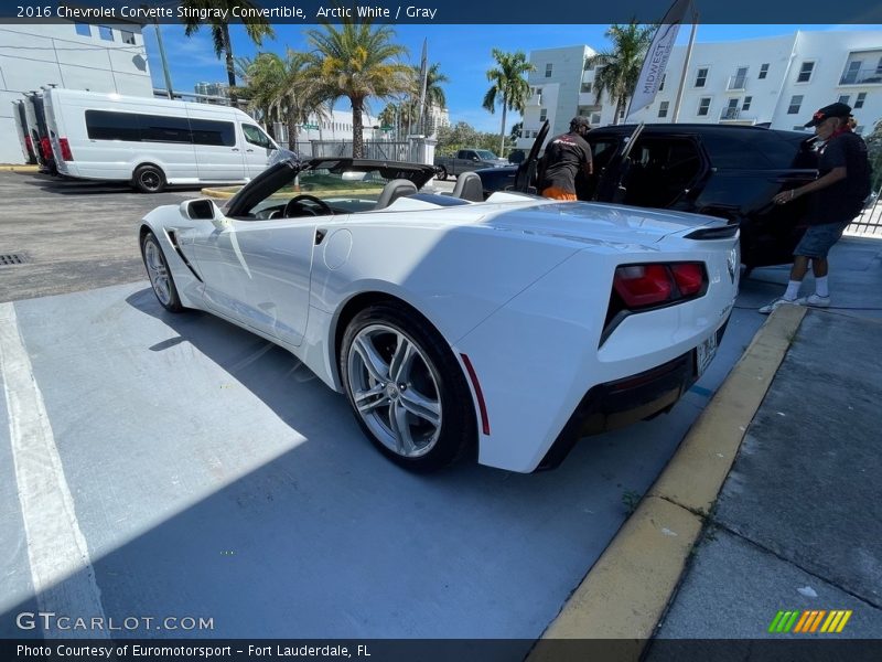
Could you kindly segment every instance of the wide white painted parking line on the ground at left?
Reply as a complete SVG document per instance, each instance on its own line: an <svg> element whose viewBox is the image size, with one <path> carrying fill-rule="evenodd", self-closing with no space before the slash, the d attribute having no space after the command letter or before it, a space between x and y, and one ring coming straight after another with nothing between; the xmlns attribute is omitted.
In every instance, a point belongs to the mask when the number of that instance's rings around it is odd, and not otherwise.
<svg viewBox="0 0 882 662"><path fill-rule="evenodd" d="M19 332L14 306L0 303L0 375L31 577L41 612L104 619L100 589L79 530L43 395ZM44 631L45 638L105 638L104 630Z"/></svg>

